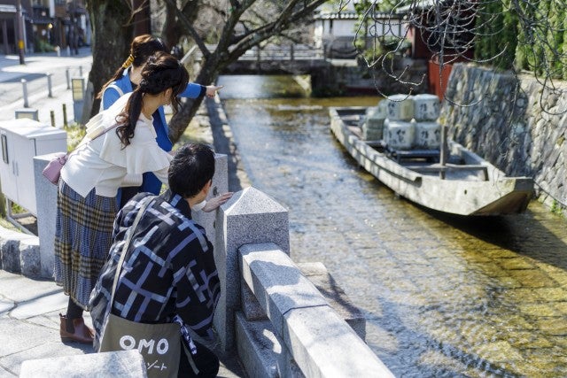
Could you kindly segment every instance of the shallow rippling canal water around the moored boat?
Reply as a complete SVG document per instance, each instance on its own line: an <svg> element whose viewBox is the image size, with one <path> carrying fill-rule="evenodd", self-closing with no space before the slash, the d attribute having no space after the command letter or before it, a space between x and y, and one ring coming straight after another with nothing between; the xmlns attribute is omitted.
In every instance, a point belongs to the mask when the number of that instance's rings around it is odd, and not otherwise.
<svg viewBox="0 0 567 378"><path fill-rule="evenodd" d="M567 376L565 220L536 201L467 219L396 197L329 130L329 106L377 96L309 98L289 76L219 83L252 186L289 210L291 258L327 267L393 374Z"/></svg>

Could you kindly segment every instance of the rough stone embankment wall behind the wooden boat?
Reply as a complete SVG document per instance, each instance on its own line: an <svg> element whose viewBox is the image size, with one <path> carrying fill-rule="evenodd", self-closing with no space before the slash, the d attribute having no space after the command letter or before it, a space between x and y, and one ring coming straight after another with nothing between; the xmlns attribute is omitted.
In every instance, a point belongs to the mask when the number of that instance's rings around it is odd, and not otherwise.
<svg viewBox="0 0 567 378"><path fill-rule="evenodd" d="M532 177L540 202L567 216L567 92L532 76L456 64L439 122L449 139L506 174Z"/></svg>

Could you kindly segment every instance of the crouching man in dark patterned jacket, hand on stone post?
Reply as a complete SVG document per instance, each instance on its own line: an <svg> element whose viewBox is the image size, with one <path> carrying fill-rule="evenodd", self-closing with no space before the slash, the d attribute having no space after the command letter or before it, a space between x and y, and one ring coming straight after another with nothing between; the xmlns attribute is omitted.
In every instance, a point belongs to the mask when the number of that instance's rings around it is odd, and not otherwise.
<svg viewBox="0 0 567 378"><path fill-rule="evenodd" d="M195 376L197 370L197 376L217 374L219 360L191 340L188 332L190 328L199 336L213 336L213 314L221 295L213 245L205 229L191 220L190 211L205 200L213 175L213 150L205 144L186 144L175 152L169 167L169 190L160 196L140 193L118 213L109 259L90 296L97 351L110 312L138 323L177 321L185 346L179 376ZM231 195L221 196L220 204ZM148 197L152 197L151 204L132 228ZM130 233L110 308L114 274Z"/></svg>

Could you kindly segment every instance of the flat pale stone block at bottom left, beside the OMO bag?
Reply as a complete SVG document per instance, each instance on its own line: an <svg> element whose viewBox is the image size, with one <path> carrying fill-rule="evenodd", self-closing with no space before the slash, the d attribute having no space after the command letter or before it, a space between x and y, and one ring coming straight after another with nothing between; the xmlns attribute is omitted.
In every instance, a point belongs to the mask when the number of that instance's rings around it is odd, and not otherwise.
<svg viewBox="0 0 567 378"><path fill-rule="evenodd" d="M52 359L28 359L19 378L147 377L144 358L137 350L106 351Z"/></svg>

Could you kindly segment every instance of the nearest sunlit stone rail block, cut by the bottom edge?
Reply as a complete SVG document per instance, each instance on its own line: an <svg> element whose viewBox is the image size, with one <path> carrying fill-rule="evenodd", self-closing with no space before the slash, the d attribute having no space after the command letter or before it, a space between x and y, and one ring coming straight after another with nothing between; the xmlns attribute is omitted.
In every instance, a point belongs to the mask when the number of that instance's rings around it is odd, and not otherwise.
<svg viewBox="0 0 567 378"><path fill-rule="evenodd" d="M308 377L394 375L330 306L291 309L283 342Z"/></svg>

